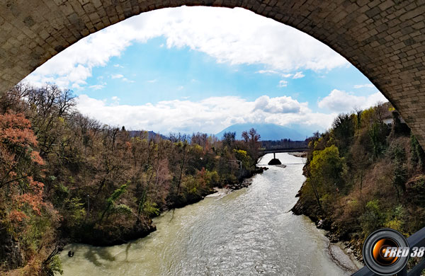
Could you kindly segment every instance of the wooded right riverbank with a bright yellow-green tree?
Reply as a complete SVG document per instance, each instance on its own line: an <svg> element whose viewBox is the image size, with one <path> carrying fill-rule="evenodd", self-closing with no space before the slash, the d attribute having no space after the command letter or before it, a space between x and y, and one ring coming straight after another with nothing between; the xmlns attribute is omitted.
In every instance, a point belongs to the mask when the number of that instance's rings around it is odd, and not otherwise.
<svg viewBox="0 0 425 276"><path fill-rule="evenodd" d="M376 229L409 236L425 226L424 168L423 149L389 103L341 114L309 143L307 179L293 211L360 257Z"/></svg>

